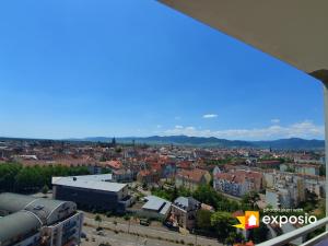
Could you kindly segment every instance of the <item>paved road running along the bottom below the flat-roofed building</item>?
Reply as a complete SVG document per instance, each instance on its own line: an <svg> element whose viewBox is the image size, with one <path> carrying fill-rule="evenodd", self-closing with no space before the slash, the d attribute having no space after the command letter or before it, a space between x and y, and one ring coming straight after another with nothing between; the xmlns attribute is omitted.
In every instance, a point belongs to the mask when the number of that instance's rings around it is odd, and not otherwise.
<svg viewBox="0 0 328 246"><path fill-rule="evenodd" d="M94 227L97 226L97 222L94 221L92 218L84 218L84 222L87 225L92 225ZM101 224L103 227L110 229L113 231L121 231L126 232L124 235L129 235L127 234L128 231L130 234L134 235L140 235L142 237L149 237L149 238L160 238L161 241L168 243L168 242L184 242L186 245L187 244L196 244L196 245L201 245L201 246L222 246L222 244L218 243L215 239L210 239L201 236L196 236L195 235L183 235L178 232L172 232L172 231L163 231L159 229L154 229L152 226L142 226L142 225L136 225L131 224L130 226L125 223L117 223L116 225L110 222L110 221L103 221ZM167 245L167 244L164 244Z"/></svg>

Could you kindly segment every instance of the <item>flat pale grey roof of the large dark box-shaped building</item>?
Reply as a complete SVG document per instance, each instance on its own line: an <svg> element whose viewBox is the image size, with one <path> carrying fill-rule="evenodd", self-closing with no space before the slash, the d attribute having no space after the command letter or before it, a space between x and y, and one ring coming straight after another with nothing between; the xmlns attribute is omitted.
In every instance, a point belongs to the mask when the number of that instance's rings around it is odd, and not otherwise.
<svg viewBox="0 0 328 246"><path fill-rule="evenodd" d="M85 179L83 177L79 178L79 176L54 177L52 185L112 191L112 192L118 192L127 186L126 184L119 184L119 183L95 181L95 180L90 180L89 178Z"/></svg>

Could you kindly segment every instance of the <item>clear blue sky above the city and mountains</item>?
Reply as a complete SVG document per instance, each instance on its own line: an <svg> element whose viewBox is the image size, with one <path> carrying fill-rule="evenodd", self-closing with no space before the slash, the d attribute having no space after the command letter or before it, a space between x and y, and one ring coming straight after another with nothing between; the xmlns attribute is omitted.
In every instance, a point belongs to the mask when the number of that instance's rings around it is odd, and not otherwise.
<svg viewBox="0 0 328 246"><path fill-rule="evenodd" d="M316 80L153 0L0 3L0 136L324 137Z"/></svg>

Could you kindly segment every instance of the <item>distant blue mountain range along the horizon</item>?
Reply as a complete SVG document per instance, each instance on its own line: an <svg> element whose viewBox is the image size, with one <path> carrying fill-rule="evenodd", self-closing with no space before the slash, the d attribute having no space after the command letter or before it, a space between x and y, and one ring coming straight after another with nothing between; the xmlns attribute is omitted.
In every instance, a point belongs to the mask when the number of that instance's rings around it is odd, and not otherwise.
<svg viewBox="0 0 328 246"><path fill-rule="evenodd" d="M81 140L81 139L79 139ZM84 141L93 142L110 142L113 138L106 137L91 137L82 139ZM176 144L176 145L195 145L195 147L219 147L219 148L272 148L272 149L291 149L291 150L307 150L307 149L324 149L324 140L306 140L300 138L268 140L268 141L242 141L242 140L226 140L214 137L187 137L187 136L152 136L152 137L129 137L116 138L119 143L147 143L147 144Z"/></svg>

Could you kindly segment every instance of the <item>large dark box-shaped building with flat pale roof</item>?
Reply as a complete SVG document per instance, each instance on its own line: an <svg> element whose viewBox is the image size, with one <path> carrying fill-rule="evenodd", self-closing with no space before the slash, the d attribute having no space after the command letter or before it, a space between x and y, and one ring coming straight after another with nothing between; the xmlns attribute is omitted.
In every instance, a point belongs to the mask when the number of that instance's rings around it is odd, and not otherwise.
<svg viewBox="0 0 328 246"><path fill-rule="evenodd" d="M52 192L55 199L74 201L86 210L124 212L131 203L128 185L112 183L106 175L52 177Z"/></svg>

